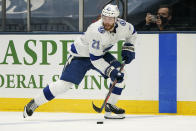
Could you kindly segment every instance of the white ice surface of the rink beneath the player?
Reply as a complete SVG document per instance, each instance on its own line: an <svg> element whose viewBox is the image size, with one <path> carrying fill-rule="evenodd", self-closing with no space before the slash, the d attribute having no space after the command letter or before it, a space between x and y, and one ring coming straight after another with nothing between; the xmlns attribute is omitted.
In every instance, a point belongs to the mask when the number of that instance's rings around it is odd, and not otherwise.
<svg viewBox="0 0 196 131"><path fill-rule="evenodd" d="M104 124L97 124L103 121ZM126 115L105 120L103 114L0 112L0 131L196 131L196 116Z"/></svg>

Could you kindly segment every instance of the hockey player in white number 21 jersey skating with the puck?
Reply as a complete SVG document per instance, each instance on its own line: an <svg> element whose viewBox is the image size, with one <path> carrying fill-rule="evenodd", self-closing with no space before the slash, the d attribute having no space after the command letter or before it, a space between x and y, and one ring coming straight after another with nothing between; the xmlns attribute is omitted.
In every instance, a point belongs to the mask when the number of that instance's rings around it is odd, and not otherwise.
<svg viewBox="0 0 196 131"><path fill-rule="evenodd" d="M124 71L119 71L121 63L108 50L119 40L124 39L122 59L129 64L135 58L134 44L137 33L132 24L118 18L119 13L116 5L108 4L104 7L101 19L92 23L85 34L71 45L71 55L60 79L46 86L24 107L24 118L31 116L40 105L67 92L74 84L79 85L90 69L98 71L105 79L110 78L111 82L117 80L106 103L104 117L106 119L125 118L125 110L115 105L124 87Z"/></svg>

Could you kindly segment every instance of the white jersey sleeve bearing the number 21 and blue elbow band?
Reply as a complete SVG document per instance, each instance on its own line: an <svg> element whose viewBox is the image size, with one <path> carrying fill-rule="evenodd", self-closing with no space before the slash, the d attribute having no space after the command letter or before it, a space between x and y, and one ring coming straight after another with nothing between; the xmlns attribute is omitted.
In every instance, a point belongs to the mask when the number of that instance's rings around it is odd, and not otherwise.
<svg viewBox="0 0 196 131"><path fill-rule="evenodd" d="M86 35L88 37L89 56L90 56L91 63L99 71L107 75L105 72L106 69L110 67L110 64L103 59L105 52L104 52L104 46L103 46L103 41L101 39L101 35L104 34L100 33L96 29L95 30L88 29Z"/></svg>

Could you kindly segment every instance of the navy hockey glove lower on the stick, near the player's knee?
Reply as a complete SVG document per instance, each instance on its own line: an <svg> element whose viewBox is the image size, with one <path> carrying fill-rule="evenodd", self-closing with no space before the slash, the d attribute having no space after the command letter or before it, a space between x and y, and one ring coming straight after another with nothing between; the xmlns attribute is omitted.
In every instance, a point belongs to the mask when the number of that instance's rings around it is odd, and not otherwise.
<svg viewBox="0 0 196 131"><path fill-rule="evenodd" d="M124 73L121 73L113 67L106 69L106 75L109 76L112 81L117 80L117 83L121 83L124 80Z"/></svg>

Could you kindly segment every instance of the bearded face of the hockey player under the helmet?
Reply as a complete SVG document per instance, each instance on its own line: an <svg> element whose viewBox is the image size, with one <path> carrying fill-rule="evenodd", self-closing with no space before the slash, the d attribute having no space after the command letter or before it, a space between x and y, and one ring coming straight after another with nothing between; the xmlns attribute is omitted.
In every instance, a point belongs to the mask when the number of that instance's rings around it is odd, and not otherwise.
<svg viewBox="0 0 196 131"><path fill-rule="evenodd" d="M108 17L108 16L102 16L102 20L103 20L104 29L107 31L111 31L111 29L113 29L114 27L115 18Z"/></svg>

